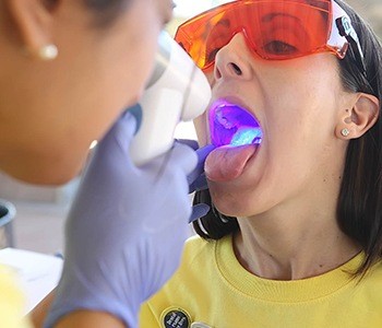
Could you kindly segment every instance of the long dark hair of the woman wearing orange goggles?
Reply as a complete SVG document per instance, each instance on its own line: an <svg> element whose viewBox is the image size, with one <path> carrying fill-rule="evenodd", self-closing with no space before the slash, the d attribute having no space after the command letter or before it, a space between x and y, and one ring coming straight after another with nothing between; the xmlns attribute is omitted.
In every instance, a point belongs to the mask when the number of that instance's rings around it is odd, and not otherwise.
<svg viewBox="0 0 382 328"><path fill-rule="evenodd" d="M348 13L365 55L366 74L356 65L349 49L339 62L345 90L363 92L380 99L377 124L362 137L349 141L337 203L341 230L356 241L366 258L356 274L382 258L382 45L377 35L348 4L336 2ZM239 230L236 218L220 214L212 203L210 191L198 191L194 203L208 203L210 212L193 223L195 232L206 239L219 239Z"/></svg>

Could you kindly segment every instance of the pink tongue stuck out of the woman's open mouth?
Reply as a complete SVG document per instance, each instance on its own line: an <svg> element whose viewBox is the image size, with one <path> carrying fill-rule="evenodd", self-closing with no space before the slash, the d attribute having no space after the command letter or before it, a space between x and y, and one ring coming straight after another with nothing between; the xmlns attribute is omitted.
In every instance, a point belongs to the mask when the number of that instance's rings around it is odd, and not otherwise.
<svg viewBox="0 0 382 328"><path fill-rule="evenodd" d="M228 181L240 176L259 145L220 147L213 150L204 164L205 175L213 181Z"/></svg>

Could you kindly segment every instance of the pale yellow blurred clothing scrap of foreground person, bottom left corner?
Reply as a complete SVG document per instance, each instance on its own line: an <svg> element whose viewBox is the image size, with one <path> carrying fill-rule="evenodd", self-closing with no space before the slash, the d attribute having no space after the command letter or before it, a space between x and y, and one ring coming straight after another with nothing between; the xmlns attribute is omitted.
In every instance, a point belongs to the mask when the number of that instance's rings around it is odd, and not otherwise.
<svg viewBox="0 0 382 328"><path fill-rule="evenodd" d="M17 289L13 274L0 266L0 327L28 328L29 320L23 315L24 297Z"/></svg>

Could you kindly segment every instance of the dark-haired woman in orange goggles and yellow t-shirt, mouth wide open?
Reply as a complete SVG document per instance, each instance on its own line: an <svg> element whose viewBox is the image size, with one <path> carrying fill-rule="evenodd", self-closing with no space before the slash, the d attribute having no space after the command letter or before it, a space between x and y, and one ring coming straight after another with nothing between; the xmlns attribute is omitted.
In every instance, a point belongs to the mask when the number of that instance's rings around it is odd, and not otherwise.
<svg viewBox="0 0 382 328"><path fill-rule="evenodd" d="M195 126L200 143L217 148L208 189L194 198L212 210L140 327L382 327L382 45L372 28L342 0L239 0L175 38L212 85Z"/></svg>

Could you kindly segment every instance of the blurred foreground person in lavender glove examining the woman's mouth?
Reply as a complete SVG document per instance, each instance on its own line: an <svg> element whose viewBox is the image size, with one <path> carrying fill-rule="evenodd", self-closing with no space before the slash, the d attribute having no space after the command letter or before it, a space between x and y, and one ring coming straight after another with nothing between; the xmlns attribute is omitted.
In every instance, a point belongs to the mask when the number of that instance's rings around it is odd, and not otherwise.
<svg viewBox="0 0 382 328"><path fill-rule="evenodd" d="M61 185L99 141L67 220L45 327L136 327L140 304L179 263L198 156L177 143L136 167L138 122L123 113L143 92L171 12L169 0L0 1L0 169ZM31 327L22 312L1 268L0 327Z"/></svg>

